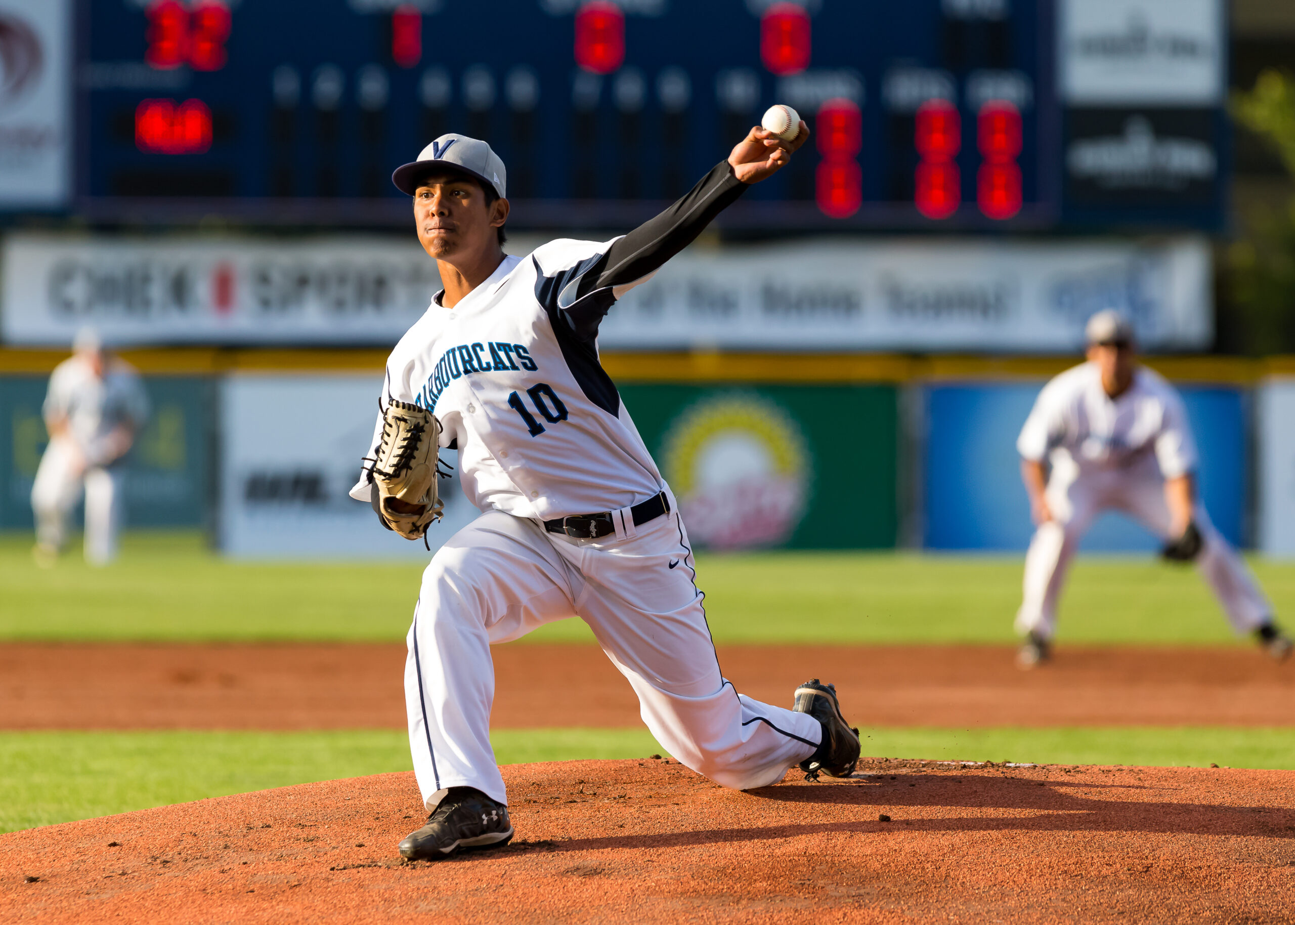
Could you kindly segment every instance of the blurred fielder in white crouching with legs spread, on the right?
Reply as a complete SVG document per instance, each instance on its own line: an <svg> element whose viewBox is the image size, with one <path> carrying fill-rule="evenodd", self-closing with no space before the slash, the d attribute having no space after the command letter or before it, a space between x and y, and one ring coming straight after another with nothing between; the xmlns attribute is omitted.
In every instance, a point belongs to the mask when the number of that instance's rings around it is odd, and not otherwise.
<svg viewBox="0 0 1295 925"><path fill-rule="evenodd" d="M1197 446L1178 393L1134 361L1133 329L1118 312L1093 315L1087 337L1088 363L1044 387L1017 440L1039 527L1026 553L1017 663L1048 659L1066 570L1089 525L1111 509L1160 536L1166 558L1195 562L1233 630L1286 658L1291 643L1272 604L1197 496Z"/></svg>

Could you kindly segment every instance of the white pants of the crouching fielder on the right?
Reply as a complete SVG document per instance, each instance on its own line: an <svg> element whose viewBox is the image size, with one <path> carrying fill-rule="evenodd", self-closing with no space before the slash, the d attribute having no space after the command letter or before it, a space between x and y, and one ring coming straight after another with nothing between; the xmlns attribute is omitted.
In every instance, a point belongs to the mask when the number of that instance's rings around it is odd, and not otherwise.
<svg viewBox="0 0 1295 925"><path fill-rule="evenodd" d="M1045 497L1053 520L1035 531L1026 553L1024 596L1017 613L1017 632L1052 639L1066 571L1097 516L1109 509L1123 510L1156 536L1169 540L1169 508L1164 500L1164 477L1155 460L1129 469L1080 469L1074 462L1061 462L1053 468ZM1204 540L1195 561L1197 571L1213 589L1237 634L1256 630L1272 619L1272 604L1199 501L1193 517Z"/></svg>

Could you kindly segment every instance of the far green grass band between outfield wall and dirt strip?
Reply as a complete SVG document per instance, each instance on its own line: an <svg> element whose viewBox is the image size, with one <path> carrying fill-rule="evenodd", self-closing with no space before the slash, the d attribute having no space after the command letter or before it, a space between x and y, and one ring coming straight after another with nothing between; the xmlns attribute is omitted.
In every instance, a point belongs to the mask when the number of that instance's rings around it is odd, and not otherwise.
<svg viewBox="0 0 1295 925"><path fill-rule="evenodd" d="M73 553L43 571L30 547L30 535L0 535L0 639L400 640L421 574L418 565L231 562L196 534L128 534L109 569ZM1254 566L1278 614L1295 613L1295 564ZM719 643L1008 643L1020 593L1017 556L703 554L698 571ZM1200 579L1150 557L1080 560L1061 637L1233 641ZM593 641L580 621L528 639Z"/></svg>

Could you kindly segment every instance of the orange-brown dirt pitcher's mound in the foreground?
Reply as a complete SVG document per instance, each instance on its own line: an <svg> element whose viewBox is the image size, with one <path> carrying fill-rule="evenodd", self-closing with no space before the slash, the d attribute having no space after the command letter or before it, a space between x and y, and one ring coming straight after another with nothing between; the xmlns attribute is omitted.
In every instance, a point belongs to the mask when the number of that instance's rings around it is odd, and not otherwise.
<svg viewBox="0 0 1295 925"><path fill-rule="evenodd" d="M1295 772L874 759L723 790L504 768L517 838L401 864L413 775L0 836L3 921L1289 921Z"/></svg>

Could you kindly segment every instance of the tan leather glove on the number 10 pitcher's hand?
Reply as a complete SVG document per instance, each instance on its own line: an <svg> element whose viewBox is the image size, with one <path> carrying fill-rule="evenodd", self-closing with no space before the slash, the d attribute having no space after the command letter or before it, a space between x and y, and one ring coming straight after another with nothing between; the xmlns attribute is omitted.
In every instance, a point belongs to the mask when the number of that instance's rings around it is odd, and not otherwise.
<svg viewBox="0 0 1295 925"><path fill-rule="evenodd" d="M382 443L373 462L373 508L387 530L421 539L440 520L436 451L440 421L426 408L391 399L382 415ZM426 542L426 540L425 540Z"/></svg>

